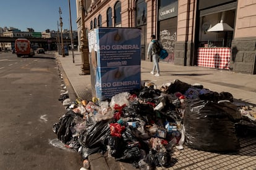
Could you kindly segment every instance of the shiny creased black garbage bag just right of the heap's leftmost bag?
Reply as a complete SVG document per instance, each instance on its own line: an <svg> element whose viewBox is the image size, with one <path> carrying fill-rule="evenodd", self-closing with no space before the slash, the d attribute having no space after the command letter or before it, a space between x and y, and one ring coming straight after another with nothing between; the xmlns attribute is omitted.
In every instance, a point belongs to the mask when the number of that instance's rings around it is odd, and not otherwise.
<svg viewBox="0 0 256 170"><path fill-rule="evenodd" d="M82 132L79 143L83 147L97 148L104 145L105 138L109 136L110 129L108 121L98 121L96 123L87 124Z"/></svg>

